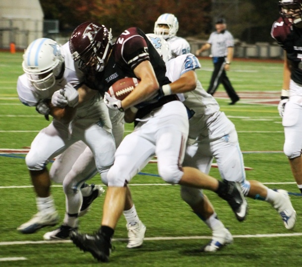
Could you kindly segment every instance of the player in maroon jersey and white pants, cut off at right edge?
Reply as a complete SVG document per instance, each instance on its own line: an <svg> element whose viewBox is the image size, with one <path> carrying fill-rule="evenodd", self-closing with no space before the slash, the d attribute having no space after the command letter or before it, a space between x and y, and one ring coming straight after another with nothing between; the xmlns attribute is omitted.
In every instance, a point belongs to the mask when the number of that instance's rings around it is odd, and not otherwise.
<svg viewBox="0 0 302 267"><path fill-rule="evenodd" d="M283 88L278 111L284 127L284 153L302 193L302 0L280 0L281 17L271 36L284 49Z"/></svg>

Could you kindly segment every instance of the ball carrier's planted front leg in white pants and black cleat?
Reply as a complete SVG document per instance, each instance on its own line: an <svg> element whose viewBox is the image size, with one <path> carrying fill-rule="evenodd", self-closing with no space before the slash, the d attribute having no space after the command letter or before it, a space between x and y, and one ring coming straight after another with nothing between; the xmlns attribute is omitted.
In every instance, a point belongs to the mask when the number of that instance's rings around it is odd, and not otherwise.
<svg viewBox="0 0 302 267"><path fill-rule="evenodd" d="M142 128L149 130L147 124L143 124ZM73 243L80 249L92 253L99 261L108 261L114 228L125 207L126 185L148 164L155 153L154 143L143 135L139 124L136 131L126 135L116 150L114 165L107 174L108 189L98 233L93 236L71 233Z"/></svg>

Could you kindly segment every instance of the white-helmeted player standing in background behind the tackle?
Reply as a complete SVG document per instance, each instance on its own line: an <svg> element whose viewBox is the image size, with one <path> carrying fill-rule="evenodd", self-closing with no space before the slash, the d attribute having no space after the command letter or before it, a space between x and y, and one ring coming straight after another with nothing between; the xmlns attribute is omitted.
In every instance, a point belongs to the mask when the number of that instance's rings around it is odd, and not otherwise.
<svg viewBox="0 0 302 267"><path fill-rule="evenodd" d="M176 36L178 20L173 14L160 15L154 24L154 34L162 36L170 45L172 57L190 53L190 44L186 39Z"/></svg>

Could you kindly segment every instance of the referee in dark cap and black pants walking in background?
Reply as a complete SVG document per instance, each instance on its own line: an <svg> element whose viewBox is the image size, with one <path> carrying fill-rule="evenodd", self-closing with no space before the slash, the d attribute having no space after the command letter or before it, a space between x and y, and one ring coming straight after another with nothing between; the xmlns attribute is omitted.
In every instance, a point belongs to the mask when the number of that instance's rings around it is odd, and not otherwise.
<svg viewBox="0 0 302 267"><path fill-rule="evenodd" d="M207 43L196 51L196 55L200 55L204 50L211 48L214 70L207 92L213 95L219 84L222 83L232 100L229 104L234 105L240 98L226 75L226 71L230 70L230 64L233 59L234 39L232 34L226 30L225 19L218 19L215 23L215 28L216 31L211 33Z"/></svg>

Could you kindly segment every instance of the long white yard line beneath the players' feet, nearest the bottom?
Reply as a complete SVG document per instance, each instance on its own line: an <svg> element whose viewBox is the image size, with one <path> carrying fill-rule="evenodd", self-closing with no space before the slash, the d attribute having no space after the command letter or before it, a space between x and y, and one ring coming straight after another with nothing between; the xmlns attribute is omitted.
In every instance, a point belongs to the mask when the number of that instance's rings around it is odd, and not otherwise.
<svg viewBox="0 0 302 267"><path fill-rule="evenodd" d="M302 233L275 233L275 234L245 234L233 235L234 238L263 238L263 237L288 237L288 236L301 236ZM145 237L144 241L159 241L159 240L187 240L187 239L211 239L212 236L158 236L158 237ZM128 238L113 238L112 241L127 241ZM71 240L53 240L53 241L11 241L0 242L0 246L10 245L28 245L28 244L54 244L54 243L71 243Z"/></svg>

